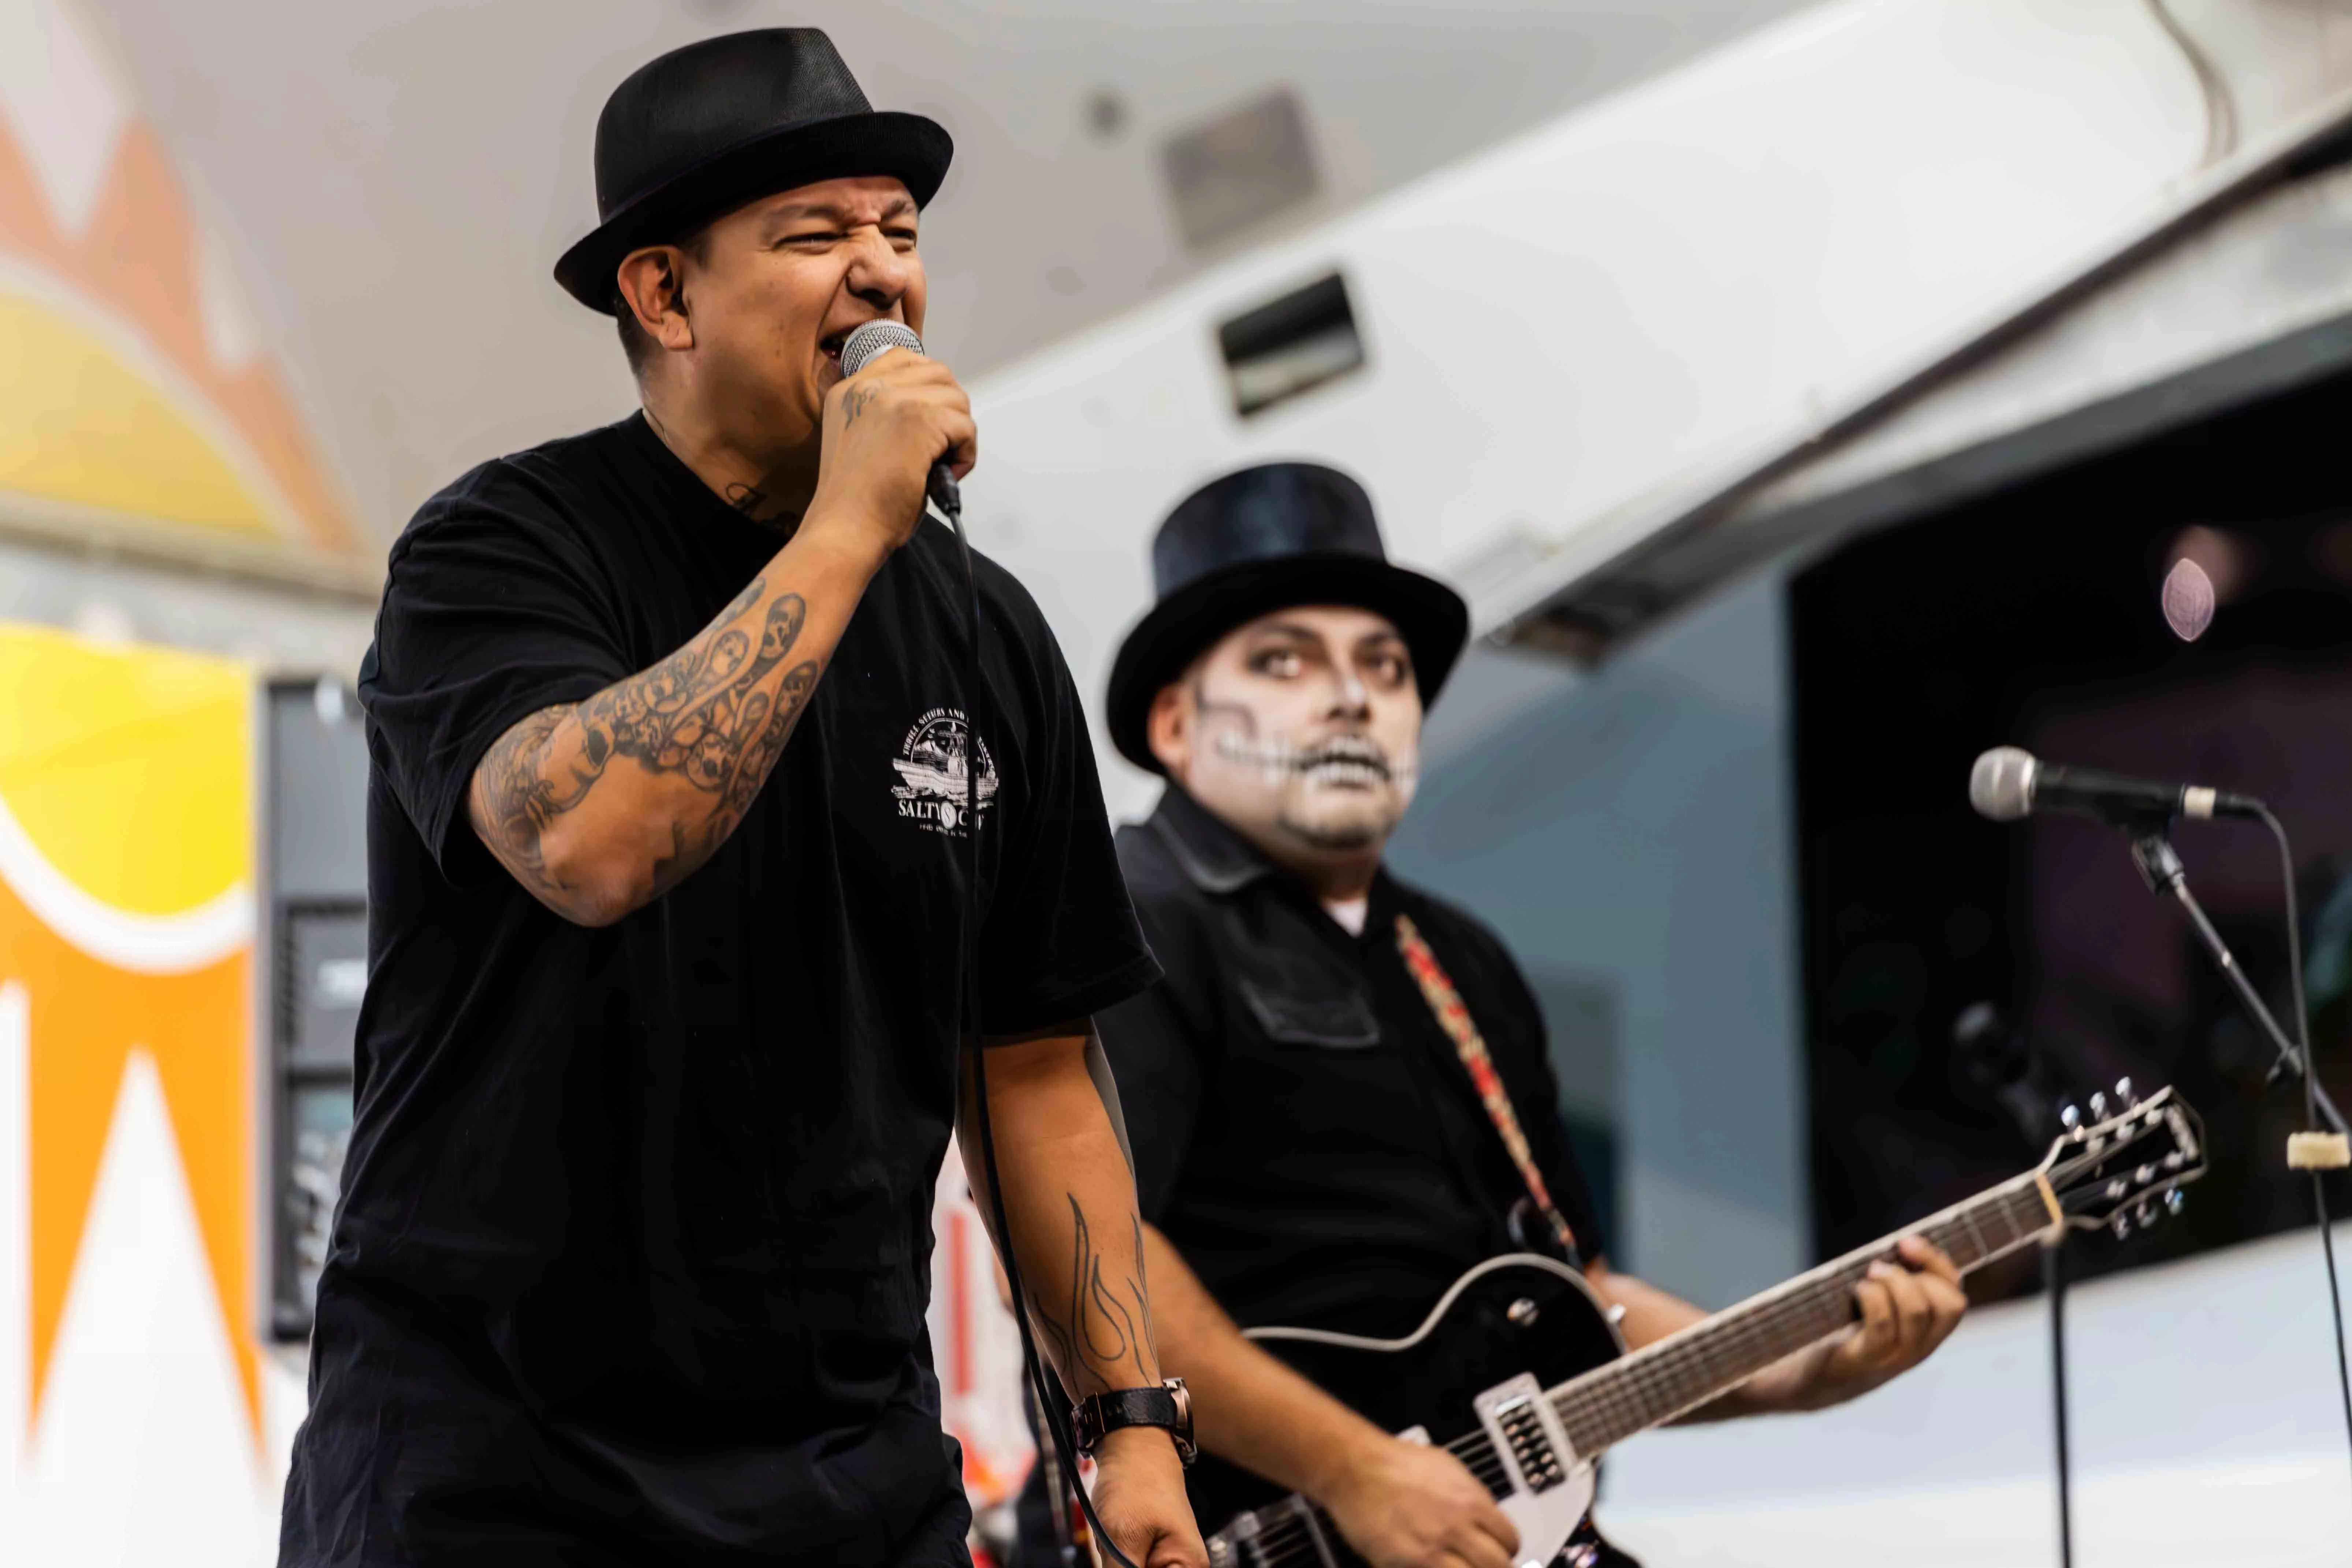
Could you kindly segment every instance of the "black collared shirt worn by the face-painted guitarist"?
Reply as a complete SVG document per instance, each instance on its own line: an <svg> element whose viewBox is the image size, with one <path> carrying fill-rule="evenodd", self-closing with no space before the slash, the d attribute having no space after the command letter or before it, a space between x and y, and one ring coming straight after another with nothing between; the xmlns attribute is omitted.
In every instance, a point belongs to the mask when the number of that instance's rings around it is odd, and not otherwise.
<svg viewBox="0 0 2352 1568"><path fill-rule="evenodd" d="M1409 1333L1463 1269L1519 1251L1508 1213L1526 1185L1404 969L1399 912L1477 1020L1583 1255L1599 1255L1543 1016L1491 931L1381 872L1350 936L1174 785L1117 846L1167 969L1096 1018L1136 1187L1244 1328Z"/></svg>

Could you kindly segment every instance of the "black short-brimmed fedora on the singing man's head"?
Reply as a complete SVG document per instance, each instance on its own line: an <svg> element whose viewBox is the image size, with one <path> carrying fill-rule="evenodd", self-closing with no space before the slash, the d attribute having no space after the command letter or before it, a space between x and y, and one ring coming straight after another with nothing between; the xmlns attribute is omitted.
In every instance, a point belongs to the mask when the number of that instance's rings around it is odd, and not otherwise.
<svg viewBox="0 0 2352 1568"><path fill-rule="evenodd" d="M922 115L877 113L818 28L706 38L640 66L595 122L597 228L555 282L614 313L614 273L640 244L682 240L762 195L891 174L922 207L955 141Z"/></svg>

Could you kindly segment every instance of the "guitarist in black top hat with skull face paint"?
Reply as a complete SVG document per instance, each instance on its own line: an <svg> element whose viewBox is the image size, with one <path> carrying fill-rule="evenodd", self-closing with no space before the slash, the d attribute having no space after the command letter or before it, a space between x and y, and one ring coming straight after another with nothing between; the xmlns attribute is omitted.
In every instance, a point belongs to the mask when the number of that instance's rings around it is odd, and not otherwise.
<svg viewBox="0 0 2352 1568"><path fill-rule="evenodd" d="M1703 1316L1604 1262L1510 952L1381 867L1468 611L1392 567L1364 489L1312 463L1188 496L1152 576L1105 717L1169 780L1117 839L1167 978L1101 1030L1134 1110L1160 1354L1192 1387L1204 1450L1322 1502L1376 1568L1505 1568L1517 1533L1461 1460L1235 1328L1406 1335L1512 1251L1581 1260L1635 1347ZM1858 1288L1853 1331L1703 1415L1820 1408L1926 1356L1966 1298L1924 1241L1903 1260Z"/></svg>

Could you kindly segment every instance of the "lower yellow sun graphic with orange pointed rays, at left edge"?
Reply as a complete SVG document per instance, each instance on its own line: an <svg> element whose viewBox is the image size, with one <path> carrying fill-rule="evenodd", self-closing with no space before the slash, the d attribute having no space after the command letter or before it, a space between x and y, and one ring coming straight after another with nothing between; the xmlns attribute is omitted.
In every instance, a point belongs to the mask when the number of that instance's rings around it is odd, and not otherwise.
<svg viewBox="0 0 2352 1568"><path fill-rule="evenodd" d="M230 661L0 628L0 983L26 997L33 1415L141 1053L261 1434L249 691Z"/></svg>

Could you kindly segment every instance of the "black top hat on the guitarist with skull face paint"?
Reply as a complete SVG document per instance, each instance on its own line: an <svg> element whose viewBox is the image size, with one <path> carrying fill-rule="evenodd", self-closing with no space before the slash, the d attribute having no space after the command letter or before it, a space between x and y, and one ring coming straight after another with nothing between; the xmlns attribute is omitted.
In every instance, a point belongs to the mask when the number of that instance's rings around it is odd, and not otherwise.
<svg viewBox="0 0 2352 1568"><path fill-rule="evenodd" d="M1110 743L1138 769L1164 773L1150 748L1150 710L1202 649L1291 604L1352 604L1395 623L1414 651L1421 705L1454 672L1470 637L1470 607L1418 571L1392 567L1364 487L1322 463L1258 463L1202 484L1152 536L1160 602L1136 621L1110 663Z"/></svg>

